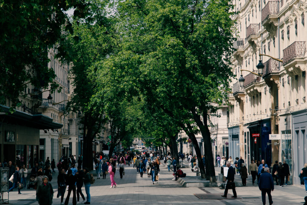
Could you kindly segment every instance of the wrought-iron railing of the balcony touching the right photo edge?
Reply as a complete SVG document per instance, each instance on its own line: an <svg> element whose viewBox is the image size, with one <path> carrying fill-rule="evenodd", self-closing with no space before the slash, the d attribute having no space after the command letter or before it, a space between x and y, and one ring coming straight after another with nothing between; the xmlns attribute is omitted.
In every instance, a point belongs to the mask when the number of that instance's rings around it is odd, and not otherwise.
<svg viewBox="0 0 307 205"><path fill-rule="evenodd" d="M305 56L305 53L306 53L306 42L296 41L283 50L283 64L285 65L292 58L298 56Z"/></svg>

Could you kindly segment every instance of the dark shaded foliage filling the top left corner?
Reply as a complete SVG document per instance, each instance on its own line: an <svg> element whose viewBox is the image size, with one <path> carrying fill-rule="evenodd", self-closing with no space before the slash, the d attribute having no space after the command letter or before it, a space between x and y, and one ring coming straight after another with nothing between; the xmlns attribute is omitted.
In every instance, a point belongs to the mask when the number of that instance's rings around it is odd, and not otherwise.
<svg viewBox="0 0 307 205"><path fill-rule="evenodd" d="M38 88L51 83L56 90L55 74L47 67L47 49L57 45L64 30L73 34L66 12L74 8L74 17L84 18L87 6L83 0L0 2L0 104L9 98L12 107L19 106L18 96L25 95L29 82ZM58 55L66 56L59 46Z"/></svg>

